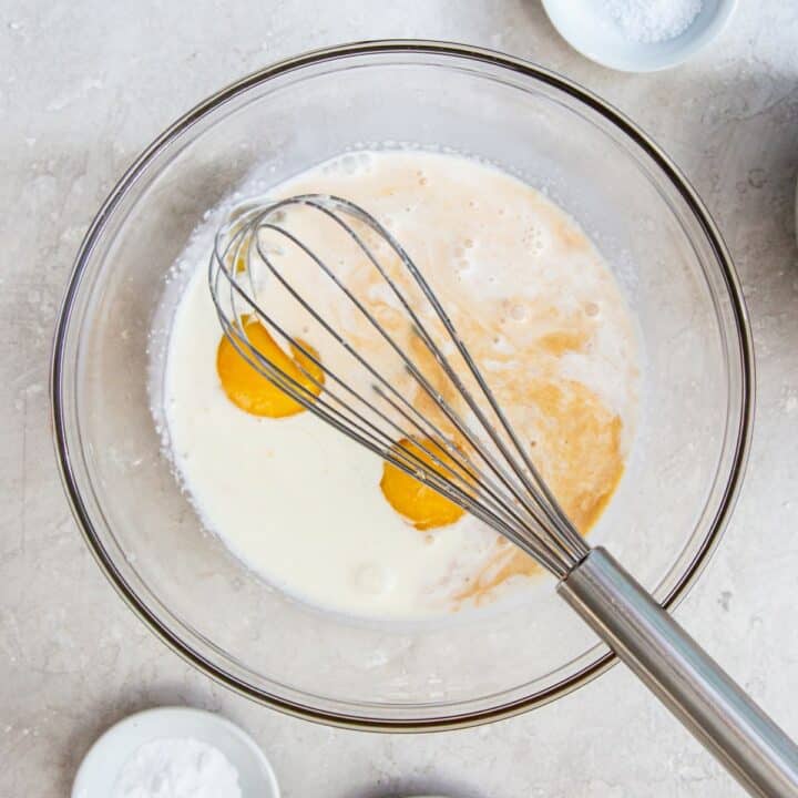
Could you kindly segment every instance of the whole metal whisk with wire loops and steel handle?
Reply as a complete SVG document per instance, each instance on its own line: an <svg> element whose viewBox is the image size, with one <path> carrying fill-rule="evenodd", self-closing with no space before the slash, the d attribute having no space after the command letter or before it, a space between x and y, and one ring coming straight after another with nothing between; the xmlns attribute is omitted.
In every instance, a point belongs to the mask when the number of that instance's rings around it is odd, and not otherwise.
<svg viewBox="0 0 798 798"><path fill-rule="evenodd" d="M348 257L325 250L332 234ZM551 572L557 593L751 795L798 796L798 748L579 534L430 278L371 214L329 195L254 201L218 231L208 278L222 328L254 369ZM254 321L294 359L255 346Z"/></svg>

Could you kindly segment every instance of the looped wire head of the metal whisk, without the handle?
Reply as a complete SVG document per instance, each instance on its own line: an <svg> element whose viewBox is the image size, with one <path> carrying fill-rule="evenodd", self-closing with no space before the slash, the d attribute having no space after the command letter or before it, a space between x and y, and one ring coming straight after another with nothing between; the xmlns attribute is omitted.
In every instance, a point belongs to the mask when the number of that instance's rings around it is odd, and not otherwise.
<svg viewBox="0 0 798 798"><path fill-rule="evenodd" d="M487 436L488 441L495 448L501 461L493 453L493 449L485 446L484 438L478 434L461 413L444 399L442 391L432 385L431 378L424 375L402 345L379 323L367 305L328 266L325 259L319 257L300 237L283 226L285 212L290 206L301 206L320 212L355 243L359 253L377 270L399 301L412 332L453 386L456 396L459 395L463 398L466 406L473 415L483 434ZM468 374L474 380L480 395L488 402L490 411L498 419L499 427L507 436L507 440L488 418L480 401L466 386L441 346L436 342L428 325L416 311L397 279L391 277L362 236L339 214L348 214L351 218L365 224L378 236L378 241L387 243L390 253L398 258L405 273L410 275L413 284L431 307L432 318L441 324L448 339L462 358ZM336 329L313 303L309 303L297 290L291 280L276 266L272 253L262 243L259 235L262 232L280 236L284 242L295 246L309 263L331 280L370 328L377 332L379 339L399 358L413 382L462 437L462 443L467 444L468 450L466 446L457 444L429 416L422 413L380 369L361 355L358 347L354 346L342 331ZM280 325L274 315L267 313L258 303L257 285L252 268L254 255L257 255L259 263L268 269L268 274L276 278L279 286L303 308L303 311L307 313L348 356L354 358L360 368L365 369L369 379L372 380L371 390L381 402L387 405L390 412L382 410L377 402L369 400L358 391L351 381L344 379L329 365L323 362L309 346L290 335L285 326ZM242 258L243 268L239 267ZM216 313L231 344L247 364L299 405L320 416L332 427L403 472L422 480L530 553L555 575L564 576L575 563L587 554L589 546L573 529L545 485L468 347L457 334L451 318L423 275L393 236L366 211L339 197L314 194L247 208L232 217L228 225L217 234L208 277ZM229 311L221 301L223 280L228 284L227 306ZM246 280L246 286L242 285L241 280ZM280 341L300 352L309 364L319 369L324 379L319 379L300 360L297 360L296 367L301 375L301 380L275 366L249 341L245 324L245 319L249 316L255 316L258 321L266 325L267 329L275 332ZM304 383L305 380L307 383ZM344 391L344 396L341 391ZM396 417L401 422L398 422ZM412 447L401 444L397 441L397 437L412 442ZM518 456L513 453L513 450ZM479 466L469 452L475 454L482 466Z"/></svg>

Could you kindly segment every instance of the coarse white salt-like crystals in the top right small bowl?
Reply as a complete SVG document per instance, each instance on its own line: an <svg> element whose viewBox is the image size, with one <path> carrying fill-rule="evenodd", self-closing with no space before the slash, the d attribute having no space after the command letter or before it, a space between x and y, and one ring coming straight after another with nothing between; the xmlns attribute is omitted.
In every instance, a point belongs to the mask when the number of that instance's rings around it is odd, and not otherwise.
<svg viewBox="0 0 798 798"><path fill-rule="evenodd" d="M700 13L703 0L602 0L630 41L654 44L684 33Z"/></svg>

